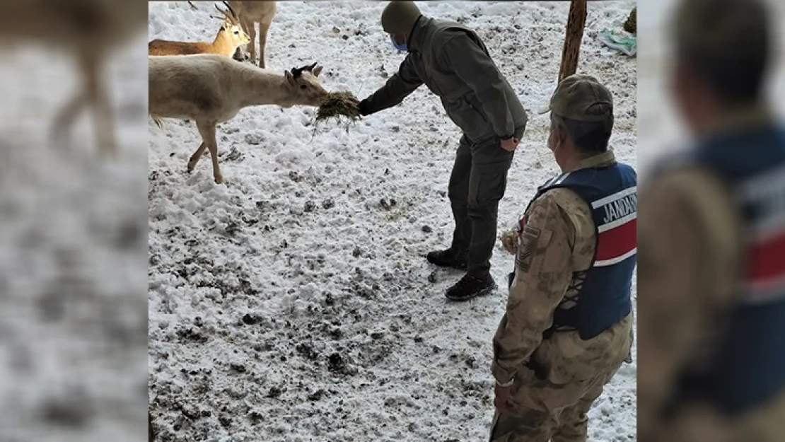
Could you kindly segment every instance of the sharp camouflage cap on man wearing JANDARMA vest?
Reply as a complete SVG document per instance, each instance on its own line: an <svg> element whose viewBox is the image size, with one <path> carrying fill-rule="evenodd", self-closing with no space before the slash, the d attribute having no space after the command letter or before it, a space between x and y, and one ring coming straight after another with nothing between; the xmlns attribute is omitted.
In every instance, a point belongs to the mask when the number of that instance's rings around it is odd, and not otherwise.
<svg viewBox="0 0 785 442"><path fill-rule="evenodd" d="M565 119L583 122L600 122L608 119L604 112L592 111L595 104L608 104L613 114L613 97L611 91L591 75L570 75L562 79L546 108L540 114L553 112Z"/></svg>

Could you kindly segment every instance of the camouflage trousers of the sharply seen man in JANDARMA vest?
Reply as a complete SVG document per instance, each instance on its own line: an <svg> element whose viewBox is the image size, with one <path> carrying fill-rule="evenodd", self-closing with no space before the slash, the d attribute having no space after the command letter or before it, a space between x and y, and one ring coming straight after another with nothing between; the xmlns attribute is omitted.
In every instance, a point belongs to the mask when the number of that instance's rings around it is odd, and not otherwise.
<svg viewBox="0 0 785 442"><path fill-rule="evenodd" d="M513 415L496 410L491 442L585 442L592 404L621 363L582 382L557 385L524 369L513 386Z"/></svg>

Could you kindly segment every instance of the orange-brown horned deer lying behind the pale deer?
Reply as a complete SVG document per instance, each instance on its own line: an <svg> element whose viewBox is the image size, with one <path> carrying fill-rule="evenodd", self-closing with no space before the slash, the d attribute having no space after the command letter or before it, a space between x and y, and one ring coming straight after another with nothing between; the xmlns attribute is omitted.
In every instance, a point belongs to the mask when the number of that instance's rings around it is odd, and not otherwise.
<svg viewBox="0 0 785 442"><path fill-rule="evenodd" d="M186 55L192 53L217 53L231 57L239 48L250 42L250 38L240 26L239 17L232 6L223 2L228 11L218 9L224 14L224 24L218 30L213 42L173 42L156 38L148 43L148 55ZM195 6L192 7L195 8Z"/></svg>

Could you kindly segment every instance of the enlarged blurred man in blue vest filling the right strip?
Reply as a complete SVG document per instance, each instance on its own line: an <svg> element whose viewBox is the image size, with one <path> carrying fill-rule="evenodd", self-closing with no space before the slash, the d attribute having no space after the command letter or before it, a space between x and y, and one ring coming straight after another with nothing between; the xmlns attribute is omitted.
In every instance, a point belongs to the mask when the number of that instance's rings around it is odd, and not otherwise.
<svg viewBox="0 0 785 442"><path fill-rule="evenodd" d="M641 188L640 442L785 440L785 125L757 0L675 13L673 96L695 137Z"/></svg>

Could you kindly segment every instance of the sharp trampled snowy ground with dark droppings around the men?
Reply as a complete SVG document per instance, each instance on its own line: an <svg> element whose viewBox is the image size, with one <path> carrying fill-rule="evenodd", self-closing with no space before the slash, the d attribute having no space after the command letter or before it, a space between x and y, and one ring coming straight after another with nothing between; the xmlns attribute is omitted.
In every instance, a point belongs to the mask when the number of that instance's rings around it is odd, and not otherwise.
<svg viewBox="0 0 785 442"><path fill-rule="evenodd" d="M615 94L612 145L635 164L636 60L601 46L632 2L590 3L579 71ZM359 97L403 55L377 2L279 2L268 67L318 61L327 89ZM207 40L216 20L150 4L148 37ZM546 116L567 2L422 3L484 38L531 121L509 172L500 227L557 174ZM311 108L247 108L221 125L226 185L192 175L192 123L150 125L150 389L161 440L484 440L493 412L491 336L505 290L465 304L460 276L423 258L446 247L447 178L459 132L425 87L347 131ZM503 285L513 259L493 259ZM635 433L634 364L590 414L590 440Z"/></svg>

